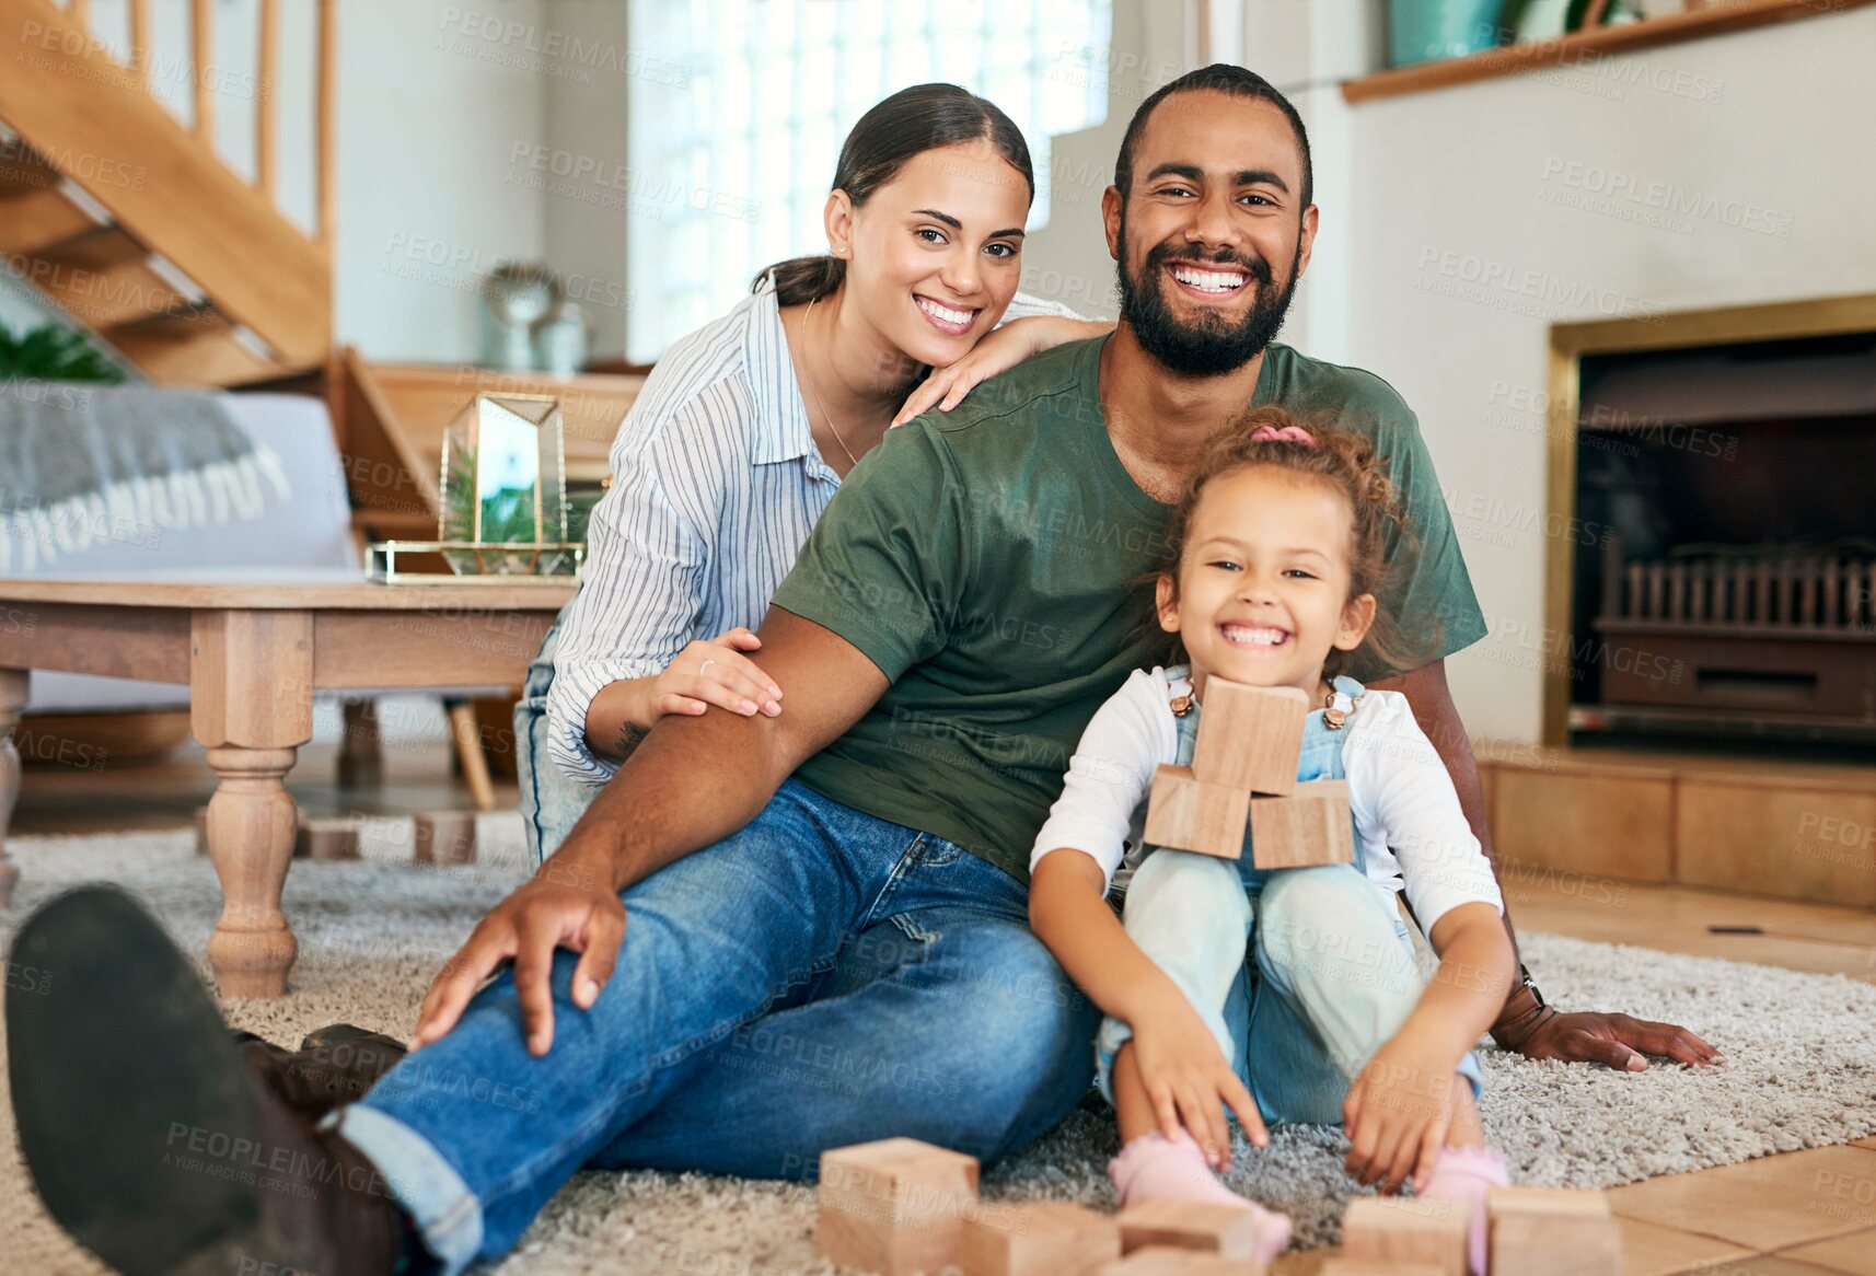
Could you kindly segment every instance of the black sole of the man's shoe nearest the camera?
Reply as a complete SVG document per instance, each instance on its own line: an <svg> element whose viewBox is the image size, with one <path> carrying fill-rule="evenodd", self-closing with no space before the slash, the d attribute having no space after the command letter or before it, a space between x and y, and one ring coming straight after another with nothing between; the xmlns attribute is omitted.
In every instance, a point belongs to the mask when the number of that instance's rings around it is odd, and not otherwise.
<svg viewBox="0 0 1876 1276"><path fill-rule="evenodd" d="M39 908L6 998L19 1143L53 1218L126 1276L291 1263L261 1237L257 1098L189 961L113 888ZM278 1268L276 1268L278 1270Z"/></svg>

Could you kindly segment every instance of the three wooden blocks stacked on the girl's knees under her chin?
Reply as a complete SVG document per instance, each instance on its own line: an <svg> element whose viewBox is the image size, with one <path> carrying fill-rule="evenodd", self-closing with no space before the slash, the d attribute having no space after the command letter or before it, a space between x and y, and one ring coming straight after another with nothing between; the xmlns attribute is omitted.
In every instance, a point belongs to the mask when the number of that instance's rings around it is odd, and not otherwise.
<svg viewBox="0 0 1876 1276"><path fill-rule="evenodd" d="M1308 717L1296 687L1206 679L1191 766L1154 775L1146 843L1238 859L1249 829L1257 869L1353 863L1347 781L1296 782Z"/></svg>

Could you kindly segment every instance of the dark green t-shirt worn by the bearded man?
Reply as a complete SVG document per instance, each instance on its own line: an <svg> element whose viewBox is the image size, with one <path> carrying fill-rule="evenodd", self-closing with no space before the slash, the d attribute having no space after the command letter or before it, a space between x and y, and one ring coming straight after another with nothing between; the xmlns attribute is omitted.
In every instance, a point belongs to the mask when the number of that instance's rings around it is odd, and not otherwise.
<svg viewBox="0 0 1876 1276"><path fill-rule="evenodd" d="M840 634L891 685L795 777L1028 878L1030 843L1094 711L1154 662L1129 582L1171 505L1107 437L1105 338L1013 368L891 430L827 503L775 604ZM1381 600L1437 661L1484 636L1415 415L1388 383L1270 345L1251 405L1373 435L1418 539ZM1390 546L1390 554L1394 548ZM1405 552L1405 550L1403 550ZM1435 619L1437 617L1437 619ZM1356 662L1368 681L1405 670Z"/></svg>

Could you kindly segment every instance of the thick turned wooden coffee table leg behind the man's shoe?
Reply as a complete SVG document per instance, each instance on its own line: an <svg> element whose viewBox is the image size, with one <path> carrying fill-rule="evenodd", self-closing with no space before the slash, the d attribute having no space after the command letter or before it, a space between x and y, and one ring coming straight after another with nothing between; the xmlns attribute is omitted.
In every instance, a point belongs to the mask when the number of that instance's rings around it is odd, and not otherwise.
<svg viewBox="0 0 1876 1276"><path fill-rule="evenodd" d="M285 775L313 737L313 623L306 612L195 612L189 728L219 782L208 856L221 918L208 965L225 996L283 996L298 944L280 891L298 813Z"/></svg>

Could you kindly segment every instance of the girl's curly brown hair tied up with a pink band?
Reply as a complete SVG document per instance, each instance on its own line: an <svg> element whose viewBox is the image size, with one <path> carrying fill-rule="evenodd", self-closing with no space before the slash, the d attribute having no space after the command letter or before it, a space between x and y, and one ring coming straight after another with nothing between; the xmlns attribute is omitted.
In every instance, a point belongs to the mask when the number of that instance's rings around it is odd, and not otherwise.
<svg viewBox="0 0 1876 1276"><path fill-rule="evenodd" d="M1270 437L1268 432L1264 437L1253 437L1261 426L1270 426L1276 432L1300 428L1313 443L1302 443L1294 437ZM1351 599L1364 593L1375 595L1377 600L1384 599L1392 584L1388 565L1390 544L1409 552L1413 548L1411 520L1401 509L1394 480L1388 478L1386 458L1375 454L1373 439L1334 426L1296 420L1276 405L1253 407L1238 417L1231 424L1231 430L1201 458L1191 484L1186 488L1167 524L1165 544L1169 548L1165 559L1133 582L1146 593L1148 602L1141 634L1154 647L1154 659L1165 664L1184 662L1188 657L1180 636L1159 629L1154 599L1159 578L1171 576L1174 591L1178 589L1178 569L1186 557L1191 512L1199 507L1199 495L1206 484L1253 465L1272 465L1309 475L1349 499L1349 509L1354 510L1354 522L1349 531ZM1334 677L1345 672L1354 657L1366 657L1366 664L1369 666L1411 670L1422 662L1416 655L1416 647L1420 646L1409 646L1398 619L1377 606L1375 623L1369 627L1362 646L1354 651L1330 649L1323 672Z"/></svg>

